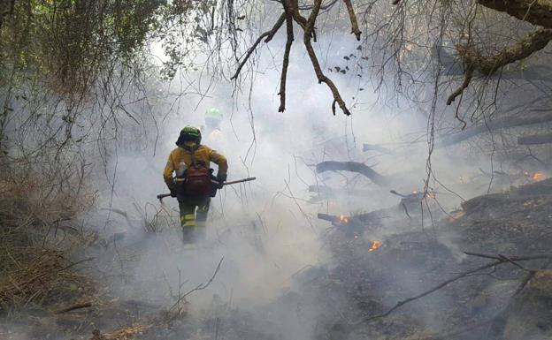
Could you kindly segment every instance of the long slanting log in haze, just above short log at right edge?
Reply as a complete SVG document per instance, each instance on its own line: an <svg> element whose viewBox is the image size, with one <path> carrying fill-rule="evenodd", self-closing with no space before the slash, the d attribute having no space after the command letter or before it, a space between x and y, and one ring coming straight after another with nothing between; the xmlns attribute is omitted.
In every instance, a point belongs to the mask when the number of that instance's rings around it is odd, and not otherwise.
<svg viewBox="0 0 552 340"><path fill-rule="evenodd" d="M461 141L468 140L473 136L476 136L479 133L483 132L548 122L552 122L552 111L538 115L533 114L531 116L522 116L521 114L519 114L509 117L492 119L489 120L487 124L474 125L468 127L462 132L449 134L448 136L441 139L441 141L438 143L438 147L449 147Z"/></svg>

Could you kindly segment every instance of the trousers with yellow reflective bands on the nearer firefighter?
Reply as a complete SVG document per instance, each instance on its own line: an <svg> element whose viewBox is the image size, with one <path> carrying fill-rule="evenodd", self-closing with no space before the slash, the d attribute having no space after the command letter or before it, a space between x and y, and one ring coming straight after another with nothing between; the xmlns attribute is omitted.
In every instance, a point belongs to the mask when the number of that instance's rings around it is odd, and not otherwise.
<svg viewBox="0 0 552 340"><path fill-rule="evenodd" d="M182 240L192 243L205 237L205 224L211 204L211 197L178 197Z"/></svg>

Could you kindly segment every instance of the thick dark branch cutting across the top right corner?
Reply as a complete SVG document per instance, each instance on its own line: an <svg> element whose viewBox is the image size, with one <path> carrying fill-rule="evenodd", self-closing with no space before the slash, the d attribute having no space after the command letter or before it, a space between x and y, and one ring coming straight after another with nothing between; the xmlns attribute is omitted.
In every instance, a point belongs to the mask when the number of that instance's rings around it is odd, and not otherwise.
<svg viewBox="0 0 552 340"><path fill-rule="evenodd" d="M478 0L478 4L533 25L552 28L552 3L535 0Z"/></svg>

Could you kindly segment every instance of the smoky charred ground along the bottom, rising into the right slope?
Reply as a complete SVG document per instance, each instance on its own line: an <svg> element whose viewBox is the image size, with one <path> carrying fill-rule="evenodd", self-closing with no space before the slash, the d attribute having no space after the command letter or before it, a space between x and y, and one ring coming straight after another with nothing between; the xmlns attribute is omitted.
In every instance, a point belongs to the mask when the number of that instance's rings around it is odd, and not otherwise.
<svg viewBox="0 0 552 340"><path fill-rule="evenodd" d="M464 201L421 223L418 204L350 216L324 237L331 261L303 268L271 304L245 310L216 296L201 318L105 294L91 308L33 311L6 339L549 339L552 179ZM372 250L373 240L381 246ZM492 258L470 255L479 253ZM540 259L514 261L517 257ZM498 259L498 260L497 260ZM469 275L474 268L500 261ZM455 276L454 282L432 291ZM28 312L28 311L27 311ZM30 327L29 327L30 322ZM30 332L28 329L33 329ZM92 336L94 329L102 334Z"/></svg>

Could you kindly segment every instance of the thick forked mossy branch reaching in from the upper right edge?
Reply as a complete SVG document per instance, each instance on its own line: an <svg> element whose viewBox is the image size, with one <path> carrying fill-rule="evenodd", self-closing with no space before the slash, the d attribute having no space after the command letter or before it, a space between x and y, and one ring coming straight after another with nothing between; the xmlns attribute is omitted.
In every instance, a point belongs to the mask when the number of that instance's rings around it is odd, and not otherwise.
<svg viewBox="0 0 552 340"><path fill-rule="evenodd" d="M532 34L527 34L524 39L509 48L502 49L495 56L483 56L479 49L472 44L458 44L456 50L458 57L464 64L464 82L455 92L449 95L447 105L455 101L456 97L464 92L470 85L474 72L485 76L491 76L507 64L531 56L534 52L544 49L552 40L551 29L540 29Z"/></svg>

